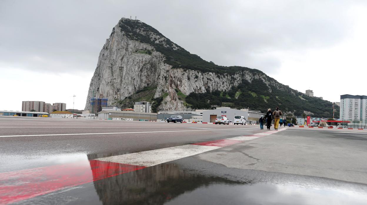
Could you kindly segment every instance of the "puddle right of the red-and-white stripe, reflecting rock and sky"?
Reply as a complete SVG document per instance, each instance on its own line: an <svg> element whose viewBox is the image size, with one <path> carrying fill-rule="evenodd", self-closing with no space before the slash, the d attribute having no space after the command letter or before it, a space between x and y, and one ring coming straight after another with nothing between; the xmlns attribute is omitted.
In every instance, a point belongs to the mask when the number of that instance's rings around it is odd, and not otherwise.
<svg viewBox="0 0 367 205"><path fill-rule="evenodd" d="M117 204L366 204L355 189L237 182L161 164L94 182L104 205Z"/></svg>

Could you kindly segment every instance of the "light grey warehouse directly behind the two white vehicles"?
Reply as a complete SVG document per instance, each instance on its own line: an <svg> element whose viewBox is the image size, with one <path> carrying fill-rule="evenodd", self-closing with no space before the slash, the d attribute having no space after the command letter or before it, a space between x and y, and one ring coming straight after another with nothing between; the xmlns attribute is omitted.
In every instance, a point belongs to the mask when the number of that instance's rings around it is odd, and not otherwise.
<svg viewBox="0 0 367 205"><path fill-rule="evenodd" d="M264 113L248 109L236 110L229 107L218 107L214 110L203 111L203 122L215 122L217 116L225 116L229 121L234 121L235 116L243 116L247 122L258 123L261 115L265 116Z"/></svg>

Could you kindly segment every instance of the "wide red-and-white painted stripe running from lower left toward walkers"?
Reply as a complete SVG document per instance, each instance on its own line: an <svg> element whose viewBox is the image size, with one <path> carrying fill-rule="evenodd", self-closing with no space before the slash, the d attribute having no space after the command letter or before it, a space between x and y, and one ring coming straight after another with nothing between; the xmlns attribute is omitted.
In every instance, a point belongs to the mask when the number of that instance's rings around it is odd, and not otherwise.
<svg viewBox="0 0 367 205"><path fill-rule="evenodd" d="M62 190L63 188L79 186L144 169L148 166L179 160L221 147L268 136L285 129L97 158L89 160L89 163L77 162L0 173L0 204L7 205ZM73 175L70 176L68 173L73 173ZM42 180L40 181L40 179Z"/></svg>

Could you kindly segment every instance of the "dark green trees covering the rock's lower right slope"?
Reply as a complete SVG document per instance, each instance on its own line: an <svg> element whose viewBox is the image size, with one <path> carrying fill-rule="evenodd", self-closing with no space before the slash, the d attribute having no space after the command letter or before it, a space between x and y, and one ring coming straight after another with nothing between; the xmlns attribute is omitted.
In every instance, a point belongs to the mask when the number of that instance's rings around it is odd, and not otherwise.
<svg viewBox="0 0 367 205"><path fill-rule="evenodd" d="M253 80L249 83L246 80L230 89L228 92L213 91L211 93L190 93L186 96L186 102L191 104L193 109L212 109L213 107L226 106L236 109L249 107L250 110L261 110L266 112L268 108L292 112L297 116L302 116L305 111L314 113L312 116L330 117L333 115L331 102L320 98L309 97L301 92L293 95L294 91L280 91L275 86L270 86L272 92L262 80ZM239 94L239 91L241 94ZM238 98L236 96L238 95ZM229 96L230 98L228 98ZM303 99L299 98L302 96ZM338 108L335 112L336 118L339 116Z"/></svg>

